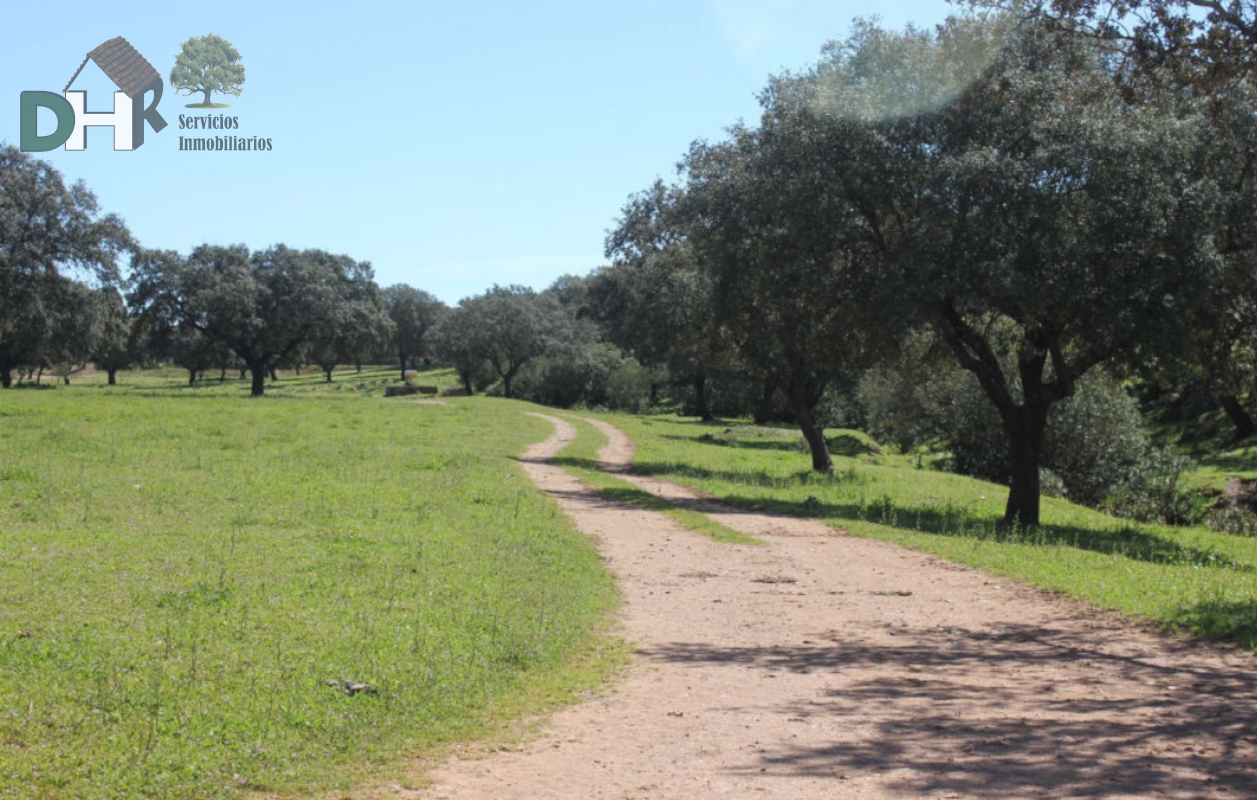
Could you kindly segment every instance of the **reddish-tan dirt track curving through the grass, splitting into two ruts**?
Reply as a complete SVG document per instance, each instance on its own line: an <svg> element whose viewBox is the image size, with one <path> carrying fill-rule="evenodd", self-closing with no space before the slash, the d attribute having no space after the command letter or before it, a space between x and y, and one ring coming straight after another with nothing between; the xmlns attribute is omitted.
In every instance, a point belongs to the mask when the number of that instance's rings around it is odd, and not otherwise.
<svg viewBox="0 0 1257 800"><path fill-rule="evenodd" d="M623 475L768 542L715 543L547 463L576 431L544 419L556 434L524 469L600 540L625 595L628 674L518 751L455 757L421 792L376 796L1257 795L1249 654ZM622 470L631 442L591 421Z"/></svg>

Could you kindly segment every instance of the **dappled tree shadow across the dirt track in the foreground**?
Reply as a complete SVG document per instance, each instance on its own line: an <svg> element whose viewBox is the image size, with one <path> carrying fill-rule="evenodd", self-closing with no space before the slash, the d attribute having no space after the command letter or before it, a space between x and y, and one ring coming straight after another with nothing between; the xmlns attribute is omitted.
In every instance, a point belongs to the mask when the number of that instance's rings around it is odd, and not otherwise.
<svg viewBox="0 0 1257 800"><path fill-rule="evenodd" d="M750 682L833 675L818 696L759 711L859 725L860 736L766 742L733 767L748 776L877 772L904 796L1251 796L1257 675L1178 642L1165 643L1169 663L1145 659L1085 628L896 628L892 643L835 630L803 644L675 642L640 652L729 665Z"/></svg>

